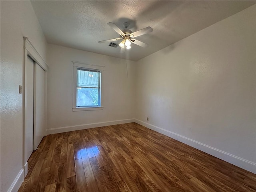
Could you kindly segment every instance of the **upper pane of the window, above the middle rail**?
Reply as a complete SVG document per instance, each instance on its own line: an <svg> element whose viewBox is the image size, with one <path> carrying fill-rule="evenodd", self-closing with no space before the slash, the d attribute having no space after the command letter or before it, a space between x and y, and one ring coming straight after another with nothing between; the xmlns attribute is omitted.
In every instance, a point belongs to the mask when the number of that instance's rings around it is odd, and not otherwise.
<svg viewBox="0 0 256 192"><path fill-rule="evenodd" d="M99 87L99 72L77 70L78 87Z"/></svg>

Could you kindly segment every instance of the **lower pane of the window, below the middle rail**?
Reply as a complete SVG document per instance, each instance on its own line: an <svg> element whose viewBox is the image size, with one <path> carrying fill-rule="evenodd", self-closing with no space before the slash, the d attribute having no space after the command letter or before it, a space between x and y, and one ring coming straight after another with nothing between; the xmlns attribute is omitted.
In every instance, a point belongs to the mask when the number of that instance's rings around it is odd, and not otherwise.
<svg viewBox="0 0 256 192"><path fill-rule="evenodd" d="M97 88L77 88L76 106L98 106Z"/></svg>

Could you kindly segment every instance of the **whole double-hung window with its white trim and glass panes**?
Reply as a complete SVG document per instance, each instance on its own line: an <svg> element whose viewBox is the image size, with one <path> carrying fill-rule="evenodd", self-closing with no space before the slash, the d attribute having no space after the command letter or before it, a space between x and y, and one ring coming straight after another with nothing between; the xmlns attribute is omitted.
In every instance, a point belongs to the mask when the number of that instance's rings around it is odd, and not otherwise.
<svg viewBox="0 0 256 192"><path fill-rule="evenodd" d="M73 111L102 110L101 78L103 66L73 63Z"/></svg>

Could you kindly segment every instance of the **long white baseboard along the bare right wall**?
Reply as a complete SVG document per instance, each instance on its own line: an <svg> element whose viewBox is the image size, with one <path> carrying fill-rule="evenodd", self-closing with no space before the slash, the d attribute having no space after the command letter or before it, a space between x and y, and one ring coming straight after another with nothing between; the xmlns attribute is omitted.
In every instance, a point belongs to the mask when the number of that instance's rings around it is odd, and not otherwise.
<svg viewBox="0 0 256 192"><path fill-rule="evenodd" d="M156 132L159 132L161 134L164 134L170 138L173 138L175 140L178 140L182 143L185 143L189 146L192 146L198 150L201 150L203 152L206 152L212 156L215 156L219 159L222 159L226 162L229 162L233 165L236 165L242 169L245 169L245 170L248 170L254 174L256 174L256 163L254 162L251 162L251 161L248 161L246 159L243 159L243 158L240 158L238 156L235 156L235 155L232 155L232 154L229 154L227 152L224 152L222 150L219 150L217 148L214 148L214 147L211 147L211 146L208 146L206 144L203 144L203 143L200 143L196 140L192 140L190 138L187 138L185 136L182 136L182 135L179 135L179 134L176 134L174 132L171 132L171 131L168 131L166 129L163 129L163 128L160 128L158 126L154 126L152 124L149 124L149 123L146 123L144 121L141 121L141 120L138 120L138 119L135 119L134 120L136 123L140 124L140 125L143 125L149 129L152 129Z"/></svg>

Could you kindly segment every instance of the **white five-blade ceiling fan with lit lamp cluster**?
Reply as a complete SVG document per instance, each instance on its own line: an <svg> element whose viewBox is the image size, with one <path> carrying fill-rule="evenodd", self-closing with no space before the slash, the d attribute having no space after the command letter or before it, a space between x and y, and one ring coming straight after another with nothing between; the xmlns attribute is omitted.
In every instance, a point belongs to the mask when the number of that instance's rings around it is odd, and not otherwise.
<svg viewBox="0 0 256 192"><path fill-rule="evenodd" d="M151 27L146 27L146 28L143 28L143 29L138 30L136 32L132 32L131 30L127 29L128 26L129 26L128 22L124 22L124 29L123 30L118 28L118 26L116 26L116 24L114 24L114 23L108 23L108 25L110 27L112 27L116 32L118 32L120 37L114 38L114 39L99 41L99 43L122 40L122 42L120 42L119 46L121 48L126 48L126 49L131 48L131 43L134 43L134 44L136 44L138 46L141 46L141 47L148 46L146 43L143 43L139 40L134 39L134 37L138 37L138 36L141 36L141 35L144 35L144 34L147 34L147 33L150 33L150 32L153 31L153 29Z"/></svg>

